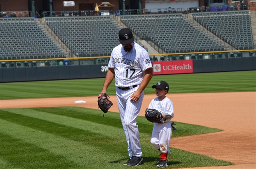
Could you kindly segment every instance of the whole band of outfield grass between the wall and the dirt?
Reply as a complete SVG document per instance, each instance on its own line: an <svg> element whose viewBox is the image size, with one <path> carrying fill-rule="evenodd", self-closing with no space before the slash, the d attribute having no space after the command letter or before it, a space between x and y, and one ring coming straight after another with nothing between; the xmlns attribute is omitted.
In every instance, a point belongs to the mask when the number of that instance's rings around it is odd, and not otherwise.
<svg viewBox="0 0 256 169"><path fill-rule="evenodd" d="M157 75L153 76L145 88L145 94L154 94L151 86L160 80L169 83L169 93L256 91L256 71L239 71ZM104 78L0 83L0 100L98 96L103 82ZM107 93L116 95L114 80L108 87Z"/></svg>

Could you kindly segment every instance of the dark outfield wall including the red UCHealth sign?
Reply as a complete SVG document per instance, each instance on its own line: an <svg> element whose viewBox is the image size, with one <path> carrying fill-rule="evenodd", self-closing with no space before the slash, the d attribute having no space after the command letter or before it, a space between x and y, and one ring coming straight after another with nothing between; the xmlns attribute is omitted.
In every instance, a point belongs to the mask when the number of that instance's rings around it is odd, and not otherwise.
<svg viewBox="0 0 256 169"><path fill-rule="evenodd" d="M30 62L26 67L0 68L0 82L104 78L108 71L108 58L101 59L91 60L94 65L81 59L68 60L60 65L58 60L63 62L63 59L55 59L57 62L47 61L43 65L42 62L37 65ZM256 57L153 61L152 65L154 75L256 70Z"/></svg>

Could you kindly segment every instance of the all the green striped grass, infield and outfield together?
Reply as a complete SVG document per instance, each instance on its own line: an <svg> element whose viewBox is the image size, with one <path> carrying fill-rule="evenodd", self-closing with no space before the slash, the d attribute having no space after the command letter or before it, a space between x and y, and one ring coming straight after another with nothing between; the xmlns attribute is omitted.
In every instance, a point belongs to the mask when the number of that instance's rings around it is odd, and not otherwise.
<svg viewBox="0 0 256 169"><path fill-rule="evenodd" d="M169 93L256 91L256 71L154 76L151 85L169 82ZM104 79L0 83L0 99L98 96ZM114 84L108 90L115 95ZM0 169L122 169L127 143L118 113L82 107L0 109ZM221 132L220 129L176 122L172 138ZM154 169L159 152L150 144L153 124L137 118L143 163ZM210 143L209 143L210 144ZM233 165L204 155L172 150L167 168Z"/></svg>

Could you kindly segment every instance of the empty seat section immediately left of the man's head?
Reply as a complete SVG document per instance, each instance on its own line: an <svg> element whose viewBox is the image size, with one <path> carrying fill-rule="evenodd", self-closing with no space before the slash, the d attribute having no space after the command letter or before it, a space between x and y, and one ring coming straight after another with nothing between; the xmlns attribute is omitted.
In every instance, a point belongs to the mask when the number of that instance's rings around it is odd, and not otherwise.
<svg viewBox="0 0 256 169"><path fill-rule="evenodd" d="M119 45L116 21L110 16L45 17L55 34L79 57L110 56Z"/></svg>

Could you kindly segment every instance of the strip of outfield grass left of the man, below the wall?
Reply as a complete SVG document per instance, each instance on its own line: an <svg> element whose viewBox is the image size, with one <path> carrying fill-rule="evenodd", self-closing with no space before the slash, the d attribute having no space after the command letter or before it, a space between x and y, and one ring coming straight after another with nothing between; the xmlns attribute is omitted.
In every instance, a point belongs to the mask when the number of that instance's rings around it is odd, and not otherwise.
<svg viewBox="0 0 256 169"><path fill-rule="evenodd" d="M89 82L90 81L90 82ZM93 96L99 93L104 79L58 80L42 82L14 82L0 84L0 99L28 99L48 97ZM88 86L90 84L90 90ZM52 95L52 96L49 96ZM15 96L15 98L13 98Z"/></svg>

